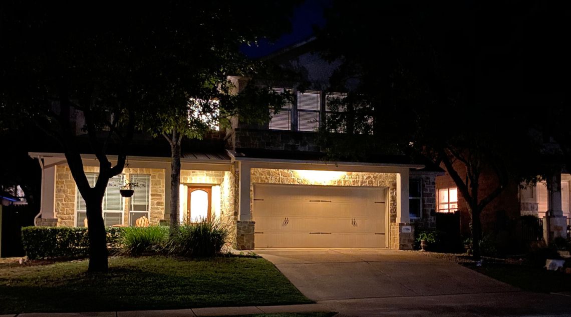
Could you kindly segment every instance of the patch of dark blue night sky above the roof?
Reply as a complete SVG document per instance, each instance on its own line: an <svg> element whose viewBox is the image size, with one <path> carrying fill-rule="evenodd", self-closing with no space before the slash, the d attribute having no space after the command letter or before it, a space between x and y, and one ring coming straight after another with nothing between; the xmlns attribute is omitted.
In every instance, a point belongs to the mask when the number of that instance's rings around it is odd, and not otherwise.
<svg viewBox="0 0 571 317"><path fill-rule="evenodd" d="M305 0L293 13L291 33L284 34L275 43L262 40L257 47L244 45L242 51L251 58L259 58L311 37L313 25L325 24L323 7L330 5L331 0Z"/></svg>

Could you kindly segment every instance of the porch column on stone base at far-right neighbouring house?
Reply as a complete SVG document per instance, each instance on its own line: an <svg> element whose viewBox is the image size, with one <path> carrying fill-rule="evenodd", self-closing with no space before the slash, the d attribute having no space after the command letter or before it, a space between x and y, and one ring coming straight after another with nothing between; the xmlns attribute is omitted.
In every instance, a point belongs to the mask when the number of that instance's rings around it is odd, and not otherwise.
<svg viewBox="0 0 571 317"><path fill-rule="evenodd" d="M561 209L561 172L547 178L547 212L543 218L543 238L551 243L555 238L567 237L567 220Z"/></svg>

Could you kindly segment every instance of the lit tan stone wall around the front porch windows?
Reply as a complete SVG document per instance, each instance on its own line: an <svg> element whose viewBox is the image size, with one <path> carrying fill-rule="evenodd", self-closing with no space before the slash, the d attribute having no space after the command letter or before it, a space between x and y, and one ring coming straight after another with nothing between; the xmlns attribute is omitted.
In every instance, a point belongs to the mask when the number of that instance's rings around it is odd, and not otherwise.
<svg viewBox="0 0 571 317"><path fill-rule="evenodd" d="M99 167L85 166L85 172L97 173ZM150 174L151 175L151 206L150 206L150 222L153 225L159 223L164 217L164 169L151 168L128 168L123 170L126 179L129 174ZM136 189L135 189L136 190ZM75 226L75 195L76 186L71 171L67 165L56 166L55 176L55 218L57 218L58 226ZM128 224L129 220L129 203L128 198L125 200L123 223Z"/></svg>

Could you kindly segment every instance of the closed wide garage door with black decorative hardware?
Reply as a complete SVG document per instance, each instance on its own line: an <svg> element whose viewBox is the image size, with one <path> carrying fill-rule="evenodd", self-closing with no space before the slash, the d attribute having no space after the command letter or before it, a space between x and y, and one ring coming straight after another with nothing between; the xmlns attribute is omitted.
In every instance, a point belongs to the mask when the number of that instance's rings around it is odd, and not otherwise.
<svg viewBox="0 0 571 317"><path fill-rule="evenodd" d="M256 247L385 247L386 188L254 184Z"/></svg>

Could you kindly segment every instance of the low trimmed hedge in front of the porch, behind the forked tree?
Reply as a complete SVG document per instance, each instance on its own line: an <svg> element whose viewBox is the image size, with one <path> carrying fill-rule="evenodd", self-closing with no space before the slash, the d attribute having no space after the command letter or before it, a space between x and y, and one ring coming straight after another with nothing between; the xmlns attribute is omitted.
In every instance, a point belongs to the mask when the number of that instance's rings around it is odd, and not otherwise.
<svg viewBox="0 0 571 317"><path fill-rule="evenodd" d="M123 228L107 227L105 230L107 246L118 246ZM80 227L23 227L22 245L31 260L89 255L87 229Z"/></svg>

